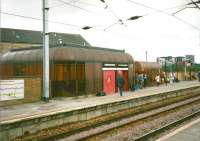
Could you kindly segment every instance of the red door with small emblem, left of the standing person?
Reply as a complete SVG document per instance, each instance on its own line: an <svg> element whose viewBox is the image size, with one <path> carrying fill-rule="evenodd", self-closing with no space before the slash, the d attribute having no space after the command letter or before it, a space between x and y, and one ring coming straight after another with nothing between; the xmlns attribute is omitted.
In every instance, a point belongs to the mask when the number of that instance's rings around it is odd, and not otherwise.
<svg viewBox="0 0 200 141"><path fill-rule="evenodd" d="M103 90L106 93L106 95L115 92L115 71L103 71Z"/></svg>

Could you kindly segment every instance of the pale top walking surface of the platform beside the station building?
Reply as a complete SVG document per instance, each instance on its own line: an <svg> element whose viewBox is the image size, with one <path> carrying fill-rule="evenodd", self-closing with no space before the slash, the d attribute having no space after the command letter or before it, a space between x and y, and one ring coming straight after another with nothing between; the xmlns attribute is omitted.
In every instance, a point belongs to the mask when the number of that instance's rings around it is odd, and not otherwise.
<svg viewBox="0 0 200 141"><path fill-rule="evenodd" d="M134 92L124 92L123 96L119 93L110 94L107 96L81 96L78 98L57 98L49 102L35 102L21 105L0 107L0 123L9 121L23 120L26 118L41 116L45 114L53 114L62 111L72 111L76 109L86 108L90 106L122 101L126 99L139 98L148 95L155 95L163 92L200 86L198 81L183 81L179 83L161 85L159 87L147 87Z"/></svg>

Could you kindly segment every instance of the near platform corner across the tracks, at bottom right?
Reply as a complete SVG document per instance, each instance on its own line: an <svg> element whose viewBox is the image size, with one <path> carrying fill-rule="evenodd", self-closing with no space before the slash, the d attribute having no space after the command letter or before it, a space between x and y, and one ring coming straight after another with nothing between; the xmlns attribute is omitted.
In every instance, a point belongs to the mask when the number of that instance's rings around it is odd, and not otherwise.
<svg viewBox="0 0 200 141"><path fill-rule="evenodd" d="M156 141L200 141L200 118Z"/></svg>

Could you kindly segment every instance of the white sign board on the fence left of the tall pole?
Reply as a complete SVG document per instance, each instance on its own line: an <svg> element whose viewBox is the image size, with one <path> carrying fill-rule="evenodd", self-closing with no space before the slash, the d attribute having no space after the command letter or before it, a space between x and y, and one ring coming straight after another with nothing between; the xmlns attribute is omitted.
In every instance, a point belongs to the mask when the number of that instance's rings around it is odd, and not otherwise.
<svg viewBox="0 0 200 141"><path fill-rule="evenodd" d="M0 80L0 101L23 98L24 80Z"/></svg>

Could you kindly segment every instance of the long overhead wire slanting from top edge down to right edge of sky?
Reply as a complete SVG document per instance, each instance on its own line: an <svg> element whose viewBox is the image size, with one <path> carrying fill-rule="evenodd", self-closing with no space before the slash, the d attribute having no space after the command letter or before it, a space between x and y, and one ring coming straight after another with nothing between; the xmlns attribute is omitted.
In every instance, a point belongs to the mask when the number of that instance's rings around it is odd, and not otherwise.
<svg viewBox="0 0 200 141"><path fill-rule="evenodd" d="M184 24L186 24L186 25L188 25L188 26L190 26L190 27L192 27L192 28L194 28L194 29L200 31L200 28L199 28L199 27L194 26L194 25L188 23L187 21L185 21L185 20L183 20L183 19L181 19L181 18L179 18L179 17L177 17L177 16L175 16L175 15L169 14L169 13L163 11L163 10L160 10L160 9L157 9L157 8L154 8L154 7L147 6L147 5L143 4L143 3L135 2L135 1L133 1L133 0L127 0L127 1L129 1L129 2L131 2L131 3L134 3L135 5L139 5L139 6L142 6L142 7L145 7L145 8L148 8L148 9L151 9L151 10L154 10L154 11L157 11L157 12L160 12L160 13L163 13L163 14L165 14L165 15L172 16L172 17L174 17L175 19L181 21L182 23L184 23Z"/></svg>

